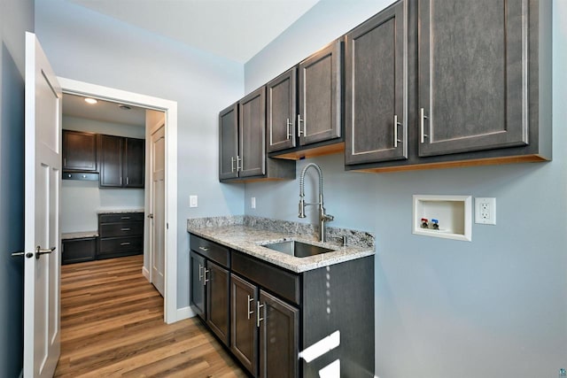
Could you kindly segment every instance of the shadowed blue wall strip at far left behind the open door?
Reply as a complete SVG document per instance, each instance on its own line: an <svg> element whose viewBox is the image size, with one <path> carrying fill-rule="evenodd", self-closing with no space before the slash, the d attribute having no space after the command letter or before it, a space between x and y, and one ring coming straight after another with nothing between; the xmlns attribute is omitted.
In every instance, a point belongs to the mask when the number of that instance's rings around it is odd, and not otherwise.
<svg viewBox="0 0 567 378"><path fill-rule="evenodd" d="M32 0L0 1L0 376L23 366L24 61Z"/></svg>

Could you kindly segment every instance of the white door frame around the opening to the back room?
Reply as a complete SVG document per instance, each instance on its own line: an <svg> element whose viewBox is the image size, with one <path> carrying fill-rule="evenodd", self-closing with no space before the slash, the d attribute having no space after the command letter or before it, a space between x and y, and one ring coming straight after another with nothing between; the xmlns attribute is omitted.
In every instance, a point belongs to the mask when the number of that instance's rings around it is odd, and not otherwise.
<svg viewBox="0 0 567 378"><path fill-rule="evenodd" d="M166 113L166 284L164 319L168 324L181 320L183 313L178 314L177 311L177 102L62 77L58 77L58 81L64 93L91 96L121 104L133 104ZM146 163L148 158L146 156ZM146 164L146 166L148 165ZM144 206L147 206L147 204L144 204ZM146 212L149 211L149 209L145 210ZM147 230L147 218L144 225L144 229ZM146 239L146 236L144 236L144 239Z"/></svg>

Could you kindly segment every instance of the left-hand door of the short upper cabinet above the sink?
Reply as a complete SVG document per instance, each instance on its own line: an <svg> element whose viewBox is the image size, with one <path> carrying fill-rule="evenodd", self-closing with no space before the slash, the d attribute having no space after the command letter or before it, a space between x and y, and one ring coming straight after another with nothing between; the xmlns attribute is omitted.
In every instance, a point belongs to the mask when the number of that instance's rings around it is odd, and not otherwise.
<svg viewBox="0 0 567 378"><path fill-rule="evenodd" d="M295 147L296 76L293 67L266 85L268 152Z"/></svg>

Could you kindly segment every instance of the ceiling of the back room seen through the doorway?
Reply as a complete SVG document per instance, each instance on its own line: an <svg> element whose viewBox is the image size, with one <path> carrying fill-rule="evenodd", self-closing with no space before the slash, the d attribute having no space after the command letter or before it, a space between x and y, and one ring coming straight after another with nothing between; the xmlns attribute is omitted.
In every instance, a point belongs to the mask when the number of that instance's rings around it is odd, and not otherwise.
<svg viewBox="0 0 567 378"><path fill-rule="evenodd" d="M87 104L83 96L63 94L63 115L145 127L145 109L134 105L130 110L119 108L120 104L98 100L97 104Z"/></svg>

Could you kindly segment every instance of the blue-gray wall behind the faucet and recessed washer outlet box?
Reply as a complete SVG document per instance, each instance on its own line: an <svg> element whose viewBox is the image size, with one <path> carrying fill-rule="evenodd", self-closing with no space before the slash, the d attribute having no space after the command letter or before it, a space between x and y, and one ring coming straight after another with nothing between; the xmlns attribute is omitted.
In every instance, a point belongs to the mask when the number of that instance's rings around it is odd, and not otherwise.
<svg viewBox="0 0 567 378"><path fill-rule="evenodd" d="M246 92L385 3L322 0L246 63ZM310 160L322 166L330 225L377 236L380 378L556 377L567 367L567 4L553 6L552 162L359 174L344 172L341 155ZM470 243L412 235L413 194L496 197L497 225L474 224ZM299 220L298 201L298 181L246 184L247 214Z"/></svg>

